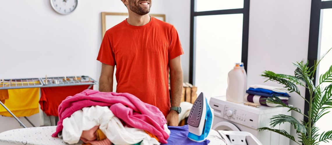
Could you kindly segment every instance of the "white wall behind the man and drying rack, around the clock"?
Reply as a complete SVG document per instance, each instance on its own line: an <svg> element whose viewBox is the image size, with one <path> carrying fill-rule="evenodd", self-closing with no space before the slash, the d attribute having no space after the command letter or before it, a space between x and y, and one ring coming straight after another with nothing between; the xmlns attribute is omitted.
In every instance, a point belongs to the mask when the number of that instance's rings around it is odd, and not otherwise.
<svg viewBox="0 0 332 145"><path fill-rule="evenodd" d="M166 14L165 4L154 1L150 13ZM125 13L127 9L120 0L79 1L72 14L63 16L51 8L49 0L0 1L0 78L88 75L98 81L101 12ZM188 45L189 41L187 55ZM29 119L40 125L38 114ZM0 132L20 128L13 118L0 117L0 122L6 124Z"/></svg>

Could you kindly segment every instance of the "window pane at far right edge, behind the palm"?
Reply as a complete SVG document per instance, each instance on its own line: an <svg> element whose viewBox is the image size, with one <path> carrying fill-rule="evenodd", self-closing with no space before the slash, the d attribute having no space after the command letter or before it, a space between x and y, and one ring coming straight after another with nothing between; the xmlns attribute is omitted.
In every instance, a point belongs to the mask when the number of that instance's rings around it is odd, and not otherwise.
<svg viewBox="0 0 332 145"><path fill-rule="evenodd" d="M321 45L320 45L320 55L323 55L326 53L331 47L332 47L332 9L324 9L321 10L321 15L323 15L322 19L322 30L321 30ZM318 67L318 74L319 76L321 74L324 74L332 65L332 51L330 51L323 60L319 63ZM317 76L316 80L319 80L319 76ZM323 84L323 86L328 86L331 83ZM330 109L329 111L332 111ZM332 130L331 126L331 120L332 120L332 112L326 114L322 118L320 118L316 126L320 128L320 132ZM321 142L319 145L328 145L330 143L324 143Z"/></svg>

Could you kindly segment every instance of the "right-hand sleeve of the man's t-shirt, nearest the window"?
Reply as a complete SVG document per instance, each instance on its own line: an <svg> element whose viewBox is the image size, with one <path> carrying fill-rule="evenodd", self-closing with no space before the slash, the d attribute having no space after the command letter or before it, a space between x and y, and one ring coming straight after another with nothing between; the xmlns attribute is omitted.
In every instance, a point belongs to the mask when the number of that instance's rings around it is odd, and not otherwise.
<svg viewBox="0 0 332 145"><path fill-rule="evenodd" d="M170 34L170 47L168 49L168 60L184 54L180 43L179 35L174 26L172 26Z"/></svg>

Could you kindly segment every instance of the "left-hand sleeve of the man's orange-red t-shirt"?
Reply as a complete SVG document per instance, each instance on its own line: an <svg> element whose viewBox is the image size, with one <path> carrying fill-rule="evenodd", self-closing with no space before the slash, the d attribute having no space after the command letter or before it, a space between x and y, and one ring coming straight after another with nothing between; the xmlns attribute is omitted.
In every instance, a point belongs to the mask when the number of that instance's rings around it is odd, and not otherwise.
<svg viewBox="0 0 332 145"><path fill-rule="evenodd" d="M97 60L107 65L116 65L115 55L111 46L110 38L107 33L105 33L102 44L100 45Z"/></svg>

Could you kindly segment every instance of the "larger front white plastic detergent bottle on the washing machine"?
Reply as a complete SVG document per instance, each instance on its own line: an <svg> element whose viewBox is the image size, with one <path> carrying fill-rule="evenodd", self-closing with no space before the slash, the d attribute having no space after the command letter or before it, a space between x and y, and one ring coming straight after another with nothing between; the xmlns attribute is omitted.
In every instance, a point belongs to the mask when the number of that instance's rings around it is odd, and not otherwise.
<svg viewBox="0 0 332 145"><path fill-rule="evenodd" d="M240 64L236 63L234 69L228 72L228 87L226 91L227 101L243 103L244 75Z"/></svg>

